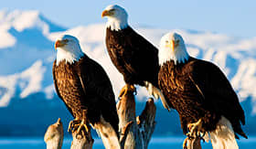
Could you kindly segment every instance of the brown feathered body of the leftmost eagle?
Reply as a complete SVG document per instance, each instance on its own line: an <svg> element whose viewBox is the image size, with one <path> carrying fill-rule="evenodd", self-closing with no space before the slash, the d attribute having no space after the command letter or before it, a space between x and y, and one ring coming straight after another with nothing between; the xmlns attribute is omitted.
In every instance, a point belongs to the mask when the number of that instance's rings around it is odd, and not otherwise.
<svg viewBox="0 0 256 149"><path fill-rule="evenodd" d="M101 116L110 122L118 134L118 115L112 84L104 69L86 55L73 63L62 60L53 63L53 79L59 98L64 101L74 118L87 119L94 124Z"/></svg>

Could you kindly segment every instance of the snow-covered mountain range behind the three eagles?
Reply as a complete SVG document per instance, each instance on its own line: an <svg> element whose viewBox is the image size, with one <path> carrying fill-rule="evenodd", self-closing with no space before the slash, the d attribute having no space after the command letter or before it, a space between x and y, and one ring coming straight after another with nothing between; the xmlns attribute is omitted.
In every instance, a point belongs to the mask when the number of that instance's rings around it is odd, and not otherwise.
<svg viewBox="0 0 256 149"><path fill-rule="evenodd" d="M51 69L55 59L54 41L62 34L80 39L83 51L98 61L109 74L115 94L123 77L112 65L104 44L104 25L66 29L51 23L37 11L0 11L0 107L16 107L22 102L40 99L42 104L56 106ZM251 114L256 113L256 37L242 38L195 30L134 27L156 47L168 31L180 33L190 55L217 64L228 76L240 101L247 101ZM147 96L138 90L138 99ZM35 100L34 100L35 99ZM50 102L50 104L46 104ZM41 105L42 106L42 105ZM25 108L25 107L23 107ZM1 110L1 108L0 108ZM0 111L2 112L2 111ZM1 113L2 115L2 113ZM55 121L55 120L54 120Z"/></svg>

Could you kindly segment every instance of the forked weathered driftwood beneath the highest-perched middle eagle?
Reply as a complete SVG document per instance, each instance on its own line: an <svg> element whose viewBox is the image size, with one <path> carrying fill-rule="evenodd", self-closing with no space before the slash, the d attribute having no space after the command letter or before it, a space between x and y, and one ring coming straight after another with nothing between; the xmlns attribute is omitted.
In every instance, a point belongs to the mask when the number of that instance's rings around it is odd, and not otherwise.
<svg viewBox="0 0 256 149"><path fill-rule="evenodd" d="M146 102L144 111L140 116L135 116L135 100L133 92L124 94L117 103L117 113L119 115L119 129L121 138L125 137L125 141L121 141L122 148L147 148L152 133L155 130L155 103L153 99ZM129 124L131 126L129 126ZM129 129L127 129L127 125Z"/></svg>

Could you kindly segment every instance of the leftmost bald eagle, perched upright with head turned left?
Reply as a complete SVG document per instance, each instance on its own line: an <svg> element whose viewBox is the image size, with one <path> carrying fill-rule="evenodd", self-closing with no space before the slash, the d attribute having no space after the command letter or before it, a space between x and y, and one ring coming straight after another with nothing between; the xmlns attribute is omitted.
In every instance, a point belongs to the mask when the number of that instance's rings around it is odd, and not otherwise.
<svg viewBox="0 0 256 149"><path fill-rule="evenodd" d="M53 80L59 98L75 118L69 128L79 130L86 122L93 126L109 122L118 135L118 115L112 83L104 69L80 48L76 37L64 35L56 43L57 59L53 63Z"/></svg>

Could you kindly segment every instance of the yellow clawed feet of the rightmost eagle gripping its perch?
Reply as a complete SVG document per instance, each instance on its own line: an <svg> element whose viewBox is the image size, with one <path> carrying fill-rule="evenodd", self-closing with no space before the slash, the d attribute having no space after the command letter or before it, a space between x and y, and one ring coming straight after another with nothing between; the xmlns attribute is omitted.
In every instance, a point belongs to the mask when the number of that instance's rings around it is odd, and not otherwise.
<svg viewBox="0 0 256 149"><path fill-rule="evenodd" d="M202 131L202 126L203 126L202 119L199 119L197 122L194 122L194 123L188 123L187 128L188 128L189 132L187 133L187 137L188 138L195 138L195 137L202 138L205 135L204 131ZM203 135L201 135L201 132L203 132Z"/></svg>

